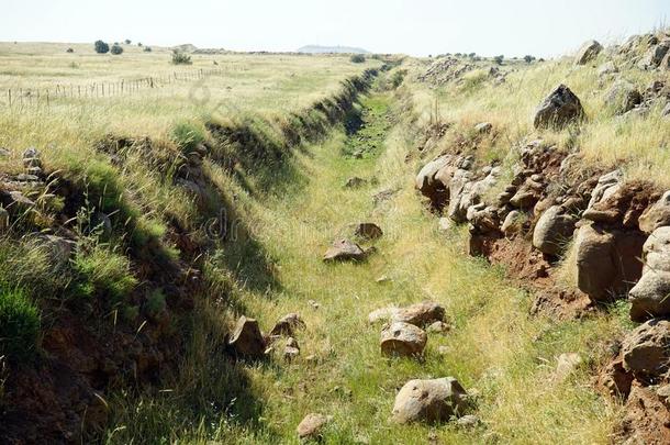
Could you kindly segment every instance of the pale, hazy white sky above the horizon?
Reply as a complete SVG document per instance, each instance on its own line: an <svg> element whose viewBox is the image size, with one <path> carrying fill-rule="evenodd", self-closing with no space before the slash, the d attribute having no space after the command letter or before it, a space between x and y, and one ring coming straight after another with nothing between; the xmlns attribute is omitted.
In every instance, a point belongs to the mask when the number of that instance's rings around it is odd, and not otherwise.
<svg viewBox="0 0 670 445"><path fill-rule="evenodd" d="M670 25L670 0L0 0L0 41L554 57Z"/></svg>

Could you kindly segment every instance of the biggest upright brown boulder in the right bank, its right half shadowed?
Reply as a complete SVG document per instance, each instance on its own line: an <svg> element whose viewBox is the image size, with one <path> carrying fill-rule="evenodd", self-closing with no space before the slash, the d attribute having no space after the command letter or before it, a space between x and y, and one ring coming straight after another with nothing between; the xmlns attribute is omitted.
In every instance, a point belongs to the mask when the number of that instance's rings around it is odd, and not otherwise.
<svg viewBox="0 0 670 445"><path fill-rule="evenodd" d="M641 276L644 234L582 225L576 237L578 287L593 301L626 292Z"/></svg>

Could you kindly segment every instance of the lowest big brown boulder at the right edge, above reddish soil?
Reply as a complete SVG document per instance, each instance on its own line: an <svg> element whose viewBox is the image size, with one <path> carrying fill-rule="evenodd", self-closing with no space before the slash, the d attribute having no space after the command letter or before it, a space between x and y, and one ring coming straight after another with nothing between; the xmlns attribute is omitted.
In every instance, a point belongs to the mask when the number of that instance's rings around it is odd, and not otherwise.
<svg viewBox="0 0 670 445"><path fill-rule="evenodd" d="M622 344L624 367L643 376L660 376L670 367L670 322L649 320Z"/></svg>

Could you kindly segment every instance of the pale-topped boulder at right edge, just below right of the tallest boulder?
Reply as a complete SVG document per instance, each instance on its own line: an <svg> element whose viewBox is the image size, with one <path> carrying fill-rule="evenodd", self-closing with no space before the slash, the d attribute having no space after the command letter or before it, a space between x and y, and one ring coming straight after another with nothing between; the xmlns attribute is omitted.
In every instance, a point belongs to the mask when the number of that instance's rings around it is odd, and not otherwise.
<svg viewBox="0 0 670 445"><path fill-rule="evenodd" d="M670 314L670 272L650 270L630 289L630 320L645 321Z"/></svg>

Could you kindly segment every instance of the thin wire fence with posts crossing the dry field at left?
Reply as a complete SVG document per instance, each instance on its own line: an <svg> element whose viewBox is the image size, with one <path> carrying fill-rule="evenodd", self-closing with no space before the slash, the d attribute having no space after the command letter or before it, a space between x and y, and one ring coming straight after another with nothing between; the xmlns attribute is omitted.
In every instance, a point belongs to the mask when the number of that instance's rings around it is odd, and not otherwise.
<svg viewBox="0 0 670 445"><path fill-rule="evenodd" d="M179 82L202 80L211 76L223 76L231 67L199 69L192 71L174 71L158 76L119 81L100 81L87 85L60 85L51 88L9 88L0 104L10 110L21 111L26 108L46 107L64 99L96 99L119 96L133 96L142 91L165 88Z"/></svg>

